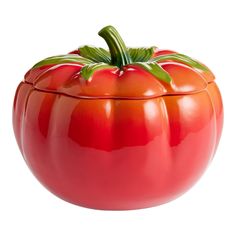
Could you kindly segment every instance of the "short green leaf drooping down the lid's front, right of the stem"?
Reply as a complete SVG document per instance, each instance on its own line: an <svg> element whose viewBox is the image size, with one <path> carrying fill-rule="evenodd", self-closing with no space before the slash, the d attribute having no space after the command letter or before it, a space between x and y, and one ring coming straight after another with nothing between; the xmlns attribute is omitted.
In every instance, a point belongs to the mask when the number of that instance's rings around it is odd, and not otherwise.
<svg viewBox="0 0 236 236"><path fill-rule="evenodd" d="M132 65L137 65L142 67L144 70L154 75L157 79L165 81L166 83L171 82L170 75L156 62L136 62L133 63Z"/></svg>

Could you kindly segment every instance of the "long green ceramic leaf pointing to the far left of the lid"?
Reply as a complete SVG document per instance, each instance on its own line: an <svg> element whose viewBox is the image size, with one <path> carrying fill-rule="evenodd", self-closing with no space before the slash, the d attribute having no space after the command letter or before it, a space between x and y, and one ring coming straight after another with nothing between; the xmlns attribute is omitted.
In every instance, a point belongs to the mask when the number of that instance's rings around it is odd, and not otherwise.
<svg viewBox="0 0 236 236"><path fill-rule="evenodd" d="M78 63L78 64L89 64L92 63L91 60L81 57L75 54L67 54L67 55L59 55L48 57L33 66L33 68L37 68L45 65L53 65L53 64L63 64L63 63Z"/></svg>

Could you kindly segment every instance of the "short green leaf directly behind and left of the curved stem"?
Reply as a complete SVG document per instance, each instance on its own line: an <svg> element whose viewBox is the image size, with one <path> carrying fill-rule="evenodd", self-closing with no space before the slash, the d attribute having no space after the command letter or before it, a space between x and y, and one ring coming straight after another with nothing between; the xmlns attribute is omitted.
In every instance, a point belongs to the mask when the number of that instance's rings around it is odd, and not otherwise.
<svg viewBox="0 0 236 236"><path fill-rule="evenodd" d="M86 57L93 62L111 63L110 53L103 48L83 46L79 48L79 53L82 57Z"/></svg>

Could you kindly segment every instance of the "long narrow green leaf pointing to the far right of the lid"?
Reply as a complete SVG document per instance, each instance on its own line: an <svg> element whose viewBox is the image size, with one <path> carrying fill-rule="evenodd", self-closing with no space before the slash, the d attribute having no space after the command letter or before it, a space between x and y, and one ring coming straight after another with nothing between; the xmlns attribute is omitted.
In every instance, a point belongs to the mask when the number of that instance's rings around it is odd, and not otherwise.
<svg viewBox="0 0 236 236"><path fill-rule="evenodd" d="M179 54L179 53L158 56L158 57L151 59L150 61L162 62L162 61L166 61L166 60L173 60L173 61L181 62L181 63L184 63L184 64L186 64L190 67L196 68L196 69L200 69L203 71L209 71L209 69L206 66L202 65L198 61L192 59L191 57L188 57L186 55Z"/></svg>

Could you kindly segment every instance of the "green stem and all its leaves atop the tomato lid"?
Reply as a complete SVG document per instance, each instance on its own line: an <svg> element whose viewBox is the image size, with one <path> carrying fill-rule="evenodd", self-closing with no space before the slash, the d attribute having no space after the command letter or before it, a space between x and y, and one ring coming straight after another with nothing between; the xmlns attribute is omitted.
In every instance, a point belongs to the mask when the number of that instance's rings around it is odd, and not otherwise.
<svg viewBox="0 0 236 236"><path fill-rule="evenodd" d="M122 69L126 65L134 65L143 68L157 79L167 83L171 81L171 77L162 69L158 62L174 60L196 69L208 70L202 64L183 54L171 53L155 56L156 47L126 48L119 33L112 26L103 28L98 34L105 39L110 51L103 48L84 46L76 51L76 55L67 54L49 57L37 63L33 68L45 65L79 63L84 65L80 71L81 76L88 80L97 70Z"/></svg>

